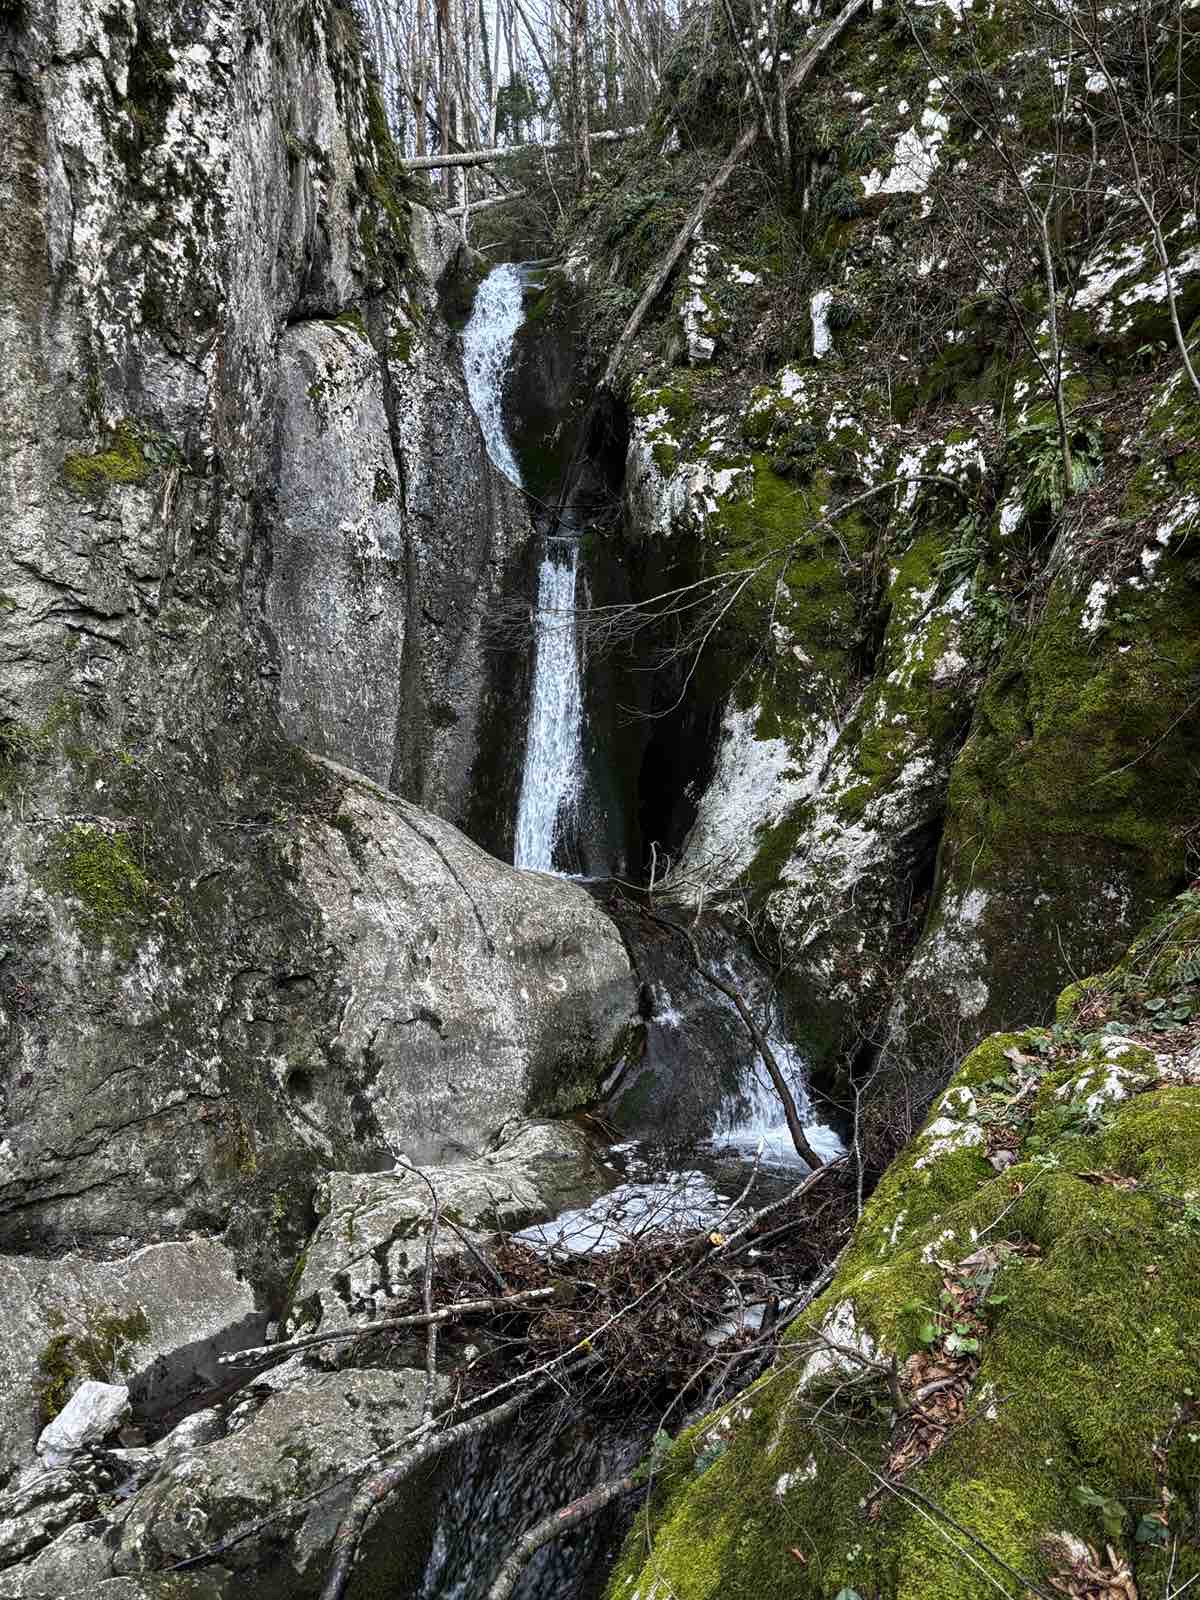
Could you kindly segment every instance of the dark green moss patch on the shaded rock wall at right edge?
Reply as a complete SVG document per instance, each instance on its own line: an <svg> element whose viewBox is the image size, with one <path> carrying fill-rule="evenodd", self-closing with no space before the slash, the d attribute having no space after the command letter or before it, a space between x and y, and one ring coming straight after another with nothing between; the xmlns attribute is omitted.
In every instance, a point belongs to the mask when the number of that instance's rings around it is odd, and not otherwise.
<svg viewBox="0 0 1200 1600"><path fill-rule="evenodd" d="M1045 1003L1064 963L1109 965L1187 875L1200 590L1168 549L1109 629L1082 626L1085 595L1054 579L1035 634L992 670L950 774L941 878L950 904L970 883L982 907L989 1018ZM1096 917L1098 893L1123 922Z"/></svg>

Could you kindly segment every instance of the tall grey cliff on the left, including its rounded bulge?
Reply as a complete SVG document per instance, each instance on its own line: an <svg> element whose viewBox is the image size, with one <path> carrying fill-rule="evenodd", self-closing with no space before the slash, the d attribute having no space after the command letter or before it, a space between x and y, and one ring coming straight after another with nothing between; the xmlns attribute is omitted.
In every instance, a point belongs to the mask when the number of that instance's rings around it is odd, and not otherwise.
<svg viewBox="0 0 1200 1600"><path fill-rule="evenodd" d="M8 1475L80 1378L214 1379L330 1170L589 1102L635 994L453 826L530 528L354 16L34 0L0 50Z"/></svg>

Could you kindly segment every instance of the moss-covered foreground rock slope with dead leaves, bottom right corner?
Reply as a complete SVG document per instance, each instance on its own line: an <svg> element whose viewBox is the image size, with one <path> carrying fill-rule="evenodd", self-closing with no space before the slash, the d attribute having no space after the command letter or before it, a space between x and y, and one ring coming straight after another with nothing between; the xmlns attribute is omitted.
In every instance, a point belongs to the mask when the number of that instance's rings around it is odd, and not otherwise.
<svg viewBox="0 0 1200 1600"><path fill-rule="evenodd" d="M1200 1570L1198 909L962 1062L771 1373L674 1445L613 1600Z"/></svg>

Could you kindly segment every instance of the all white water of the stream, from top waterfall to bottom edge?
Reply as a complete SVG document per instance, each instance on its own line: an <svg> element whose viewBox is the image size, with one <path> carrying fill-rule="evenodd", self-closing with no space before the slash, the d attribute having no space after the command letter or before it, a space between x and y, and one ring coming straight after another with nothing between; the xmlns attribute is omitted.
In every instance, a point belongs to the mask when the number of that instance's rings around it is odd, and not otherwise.
<svg viewBox="0 0 1200 1600"><path fill-rule="evenodd" d="M518 488L522 475L504 427L502 395L523 320L523 288L518 266L490 272L462 336L467 387L488 454ZM542 872L554 870L555 850L562 848L582 784L578 568L576 530L544 538L514 851L515 866ZM730 976L738 974L730 971ZM654 1022L686 1029L688 1018L666 995L662 1005ZM821 1154L837 1154L840 1141L814 1122L805 1062L778 1019L768 1037L810 1139ZM730 1206L746 1187L747 1163L758 1155L755 1203L795 1182L798 1158L762 1062L746 1067L738 1091L725 1102L714 1101L710 1118L710 1141L688 1149L637 1142L613 1147L608 1158L624 1181L517 1237L550 1256L603 1254L630 1240L691 1234L731 1216ZM754 1325L755 1315L762 1315L762 1307L731 1307L730 1322L712 1330L712 1342ZM605 1477L629 1470L645 1450L643 1432L618 1419L570 1416L547 1427L542 1416L533 1426L515 1422L502 1435L461 1448L440 1474L437 1528L419 1600L480 1600L514 1534ZM515 1600L598 1600L627 1517L627 1506L614 1506L544 1547L522 1573Z"/></svg>

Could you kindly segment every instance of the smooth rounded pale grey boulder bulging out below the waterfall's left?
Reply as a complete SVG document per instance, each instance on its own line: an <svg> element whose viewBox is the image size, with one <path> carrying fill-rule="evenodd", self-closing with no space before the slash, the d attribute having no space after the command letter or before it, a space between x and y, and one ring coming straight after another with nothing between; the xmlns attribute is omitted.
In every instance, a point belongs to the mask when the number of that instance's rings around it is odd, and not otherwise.
<svg viewBox="0 0 1200 1600"><path fill-rule="evenodd" d="M336 821L299 834L299 878L350 995L334 1070L296 1090L309 1114L320 1120L322 1093L344 1096L360 1064L381 1150L427 1160L480 1149L523 1112L594 1099L634 986L590 896L363 782L347 784Z"/></svg>

